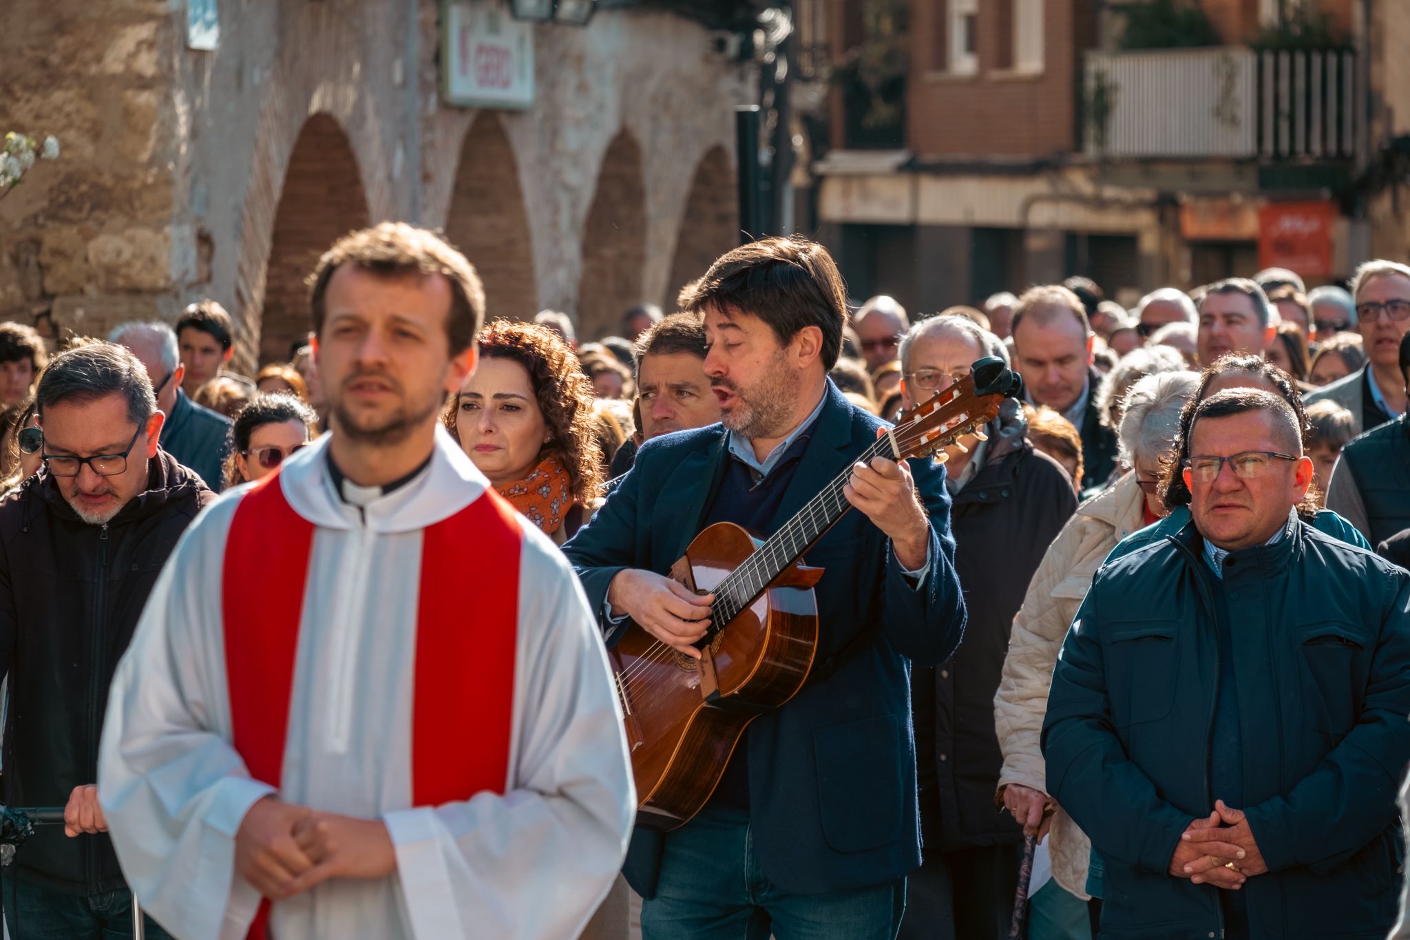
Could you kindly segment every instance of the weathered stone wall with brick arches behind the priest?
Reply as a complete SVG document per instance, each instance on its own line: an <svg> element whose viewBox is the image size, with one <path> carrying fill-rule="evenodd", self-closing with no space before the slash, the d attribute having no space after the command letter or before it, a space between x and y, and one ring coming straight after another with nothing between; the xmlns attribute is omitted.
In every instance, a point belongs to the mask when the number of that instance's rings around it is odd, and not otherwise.
<svg viewBox="0 0 1410 940"><path fill-rule="evenodd" d="M440 99L439 8L220 0L200 52L176 0L10 0L0 128L63 155L0 202L0 317L99 334L210 296L251 368L298 338L320 247L406 218L484 268L492 314L581 307L592 335L735 244L732 223L684 217L733 206L732 109L753 97L706 30L630 11L536 27L534 109L477 113Z"/></svg>

